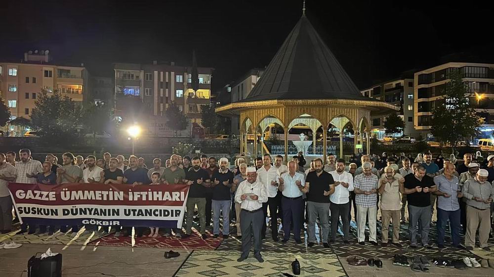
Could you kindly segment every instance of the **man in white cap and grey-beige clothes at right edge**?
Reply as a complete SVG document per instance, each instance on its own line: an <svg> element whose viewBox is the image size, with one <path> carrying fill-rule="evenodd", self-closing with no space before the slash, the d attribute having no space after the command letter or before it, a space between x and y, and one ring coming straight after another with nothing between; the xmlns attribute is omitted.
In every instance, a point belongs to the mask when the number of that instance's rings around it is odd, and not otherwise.
<svg viewBox="0 0 494 277"><path fill-rule="evenodd" d="M491 251L487 245L489 232L491 231L491 203L494 198L494 188L487 181L489 172L481 169L477 176L465 182L461 188L463 198L466 199L466 234L465 246L467 250L473 250L475 246L475 233L479 229L479 245L486 251Z"/></svg>

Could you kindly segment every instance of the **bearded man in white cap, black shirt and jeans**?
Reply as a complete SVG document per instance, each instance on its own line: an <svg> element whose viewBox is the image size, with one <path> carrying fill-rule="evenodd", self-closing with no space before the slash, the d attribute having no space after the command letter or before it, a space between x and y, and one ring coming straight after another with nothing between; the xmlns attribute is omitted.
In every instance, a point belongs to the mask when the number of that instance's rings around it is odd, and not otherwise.
<svg viewBox="0 0 494 277"><path fill-rule="evenodd" d="M219 159L219 169L211 177L214 238L219 236L219 215L221 212L223 212L223 239L228 238L230 233L230 208L232 206L230 189L235 176L228 169L229 167L230 163L227 158Z"/></svg>

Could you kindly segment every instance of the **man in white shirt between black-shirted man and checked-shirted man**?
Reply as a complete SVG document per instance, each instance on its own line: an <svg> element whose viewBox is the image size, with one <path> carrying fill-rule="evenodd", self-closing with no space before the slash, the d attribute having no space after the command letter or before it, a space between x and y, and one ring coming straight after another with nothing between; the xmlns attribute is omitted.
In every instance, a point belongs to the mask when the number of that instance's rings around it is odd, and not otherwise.
<svg viewBox="0 0 494 277"><path fill-rule="evenodd" d="M350 209L350 191L353 191L353 176L351 173L345 172L345 160L338 159L336 162L336 170L330 172L334 179L334 193L329 197L329 210L331 212L331 240L332 243L336 240L336 231L338 230L338 221L341 216L343 223L343 242L348 241L348 233L350 232L350 222L348 221L348 212ZM322 220L322 219L321 219Z"/></svg>

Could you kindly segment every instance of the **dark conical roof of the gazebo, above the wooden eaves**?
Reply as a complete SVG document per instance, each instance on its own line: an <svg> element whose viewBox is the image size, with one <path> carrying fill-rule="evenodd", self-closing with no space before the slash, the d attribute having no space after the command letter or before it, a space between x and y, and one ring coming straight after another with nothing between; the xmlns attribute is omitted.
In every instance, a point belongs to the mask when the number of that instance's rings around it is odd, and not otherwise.
<svg viewBox="0 0 494 277"><path fill-rule="evenodd" d="M369 100L362 96L305 16L291 30L243 102L273 99Z"/></svg>

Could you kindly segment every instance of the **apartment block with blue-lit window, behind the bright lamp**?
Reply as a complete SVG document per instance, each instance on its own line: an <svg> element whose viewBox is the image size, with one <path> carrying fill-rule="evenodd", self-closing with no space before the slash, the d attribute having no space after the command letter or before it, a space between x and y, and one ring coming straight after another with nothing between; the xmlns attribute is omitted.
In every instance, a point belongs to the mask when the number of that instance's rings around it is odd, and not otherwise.
<svg viewBox="0 0 494 277"><path fill-rule="evenodd" d="M117 119L142 120L163 116L176 104L190 119L201 124L201 110L210 104L212 68L198 68L199 89L192 89L192 67L174 63L115 64L114 113Z"/></svg>

